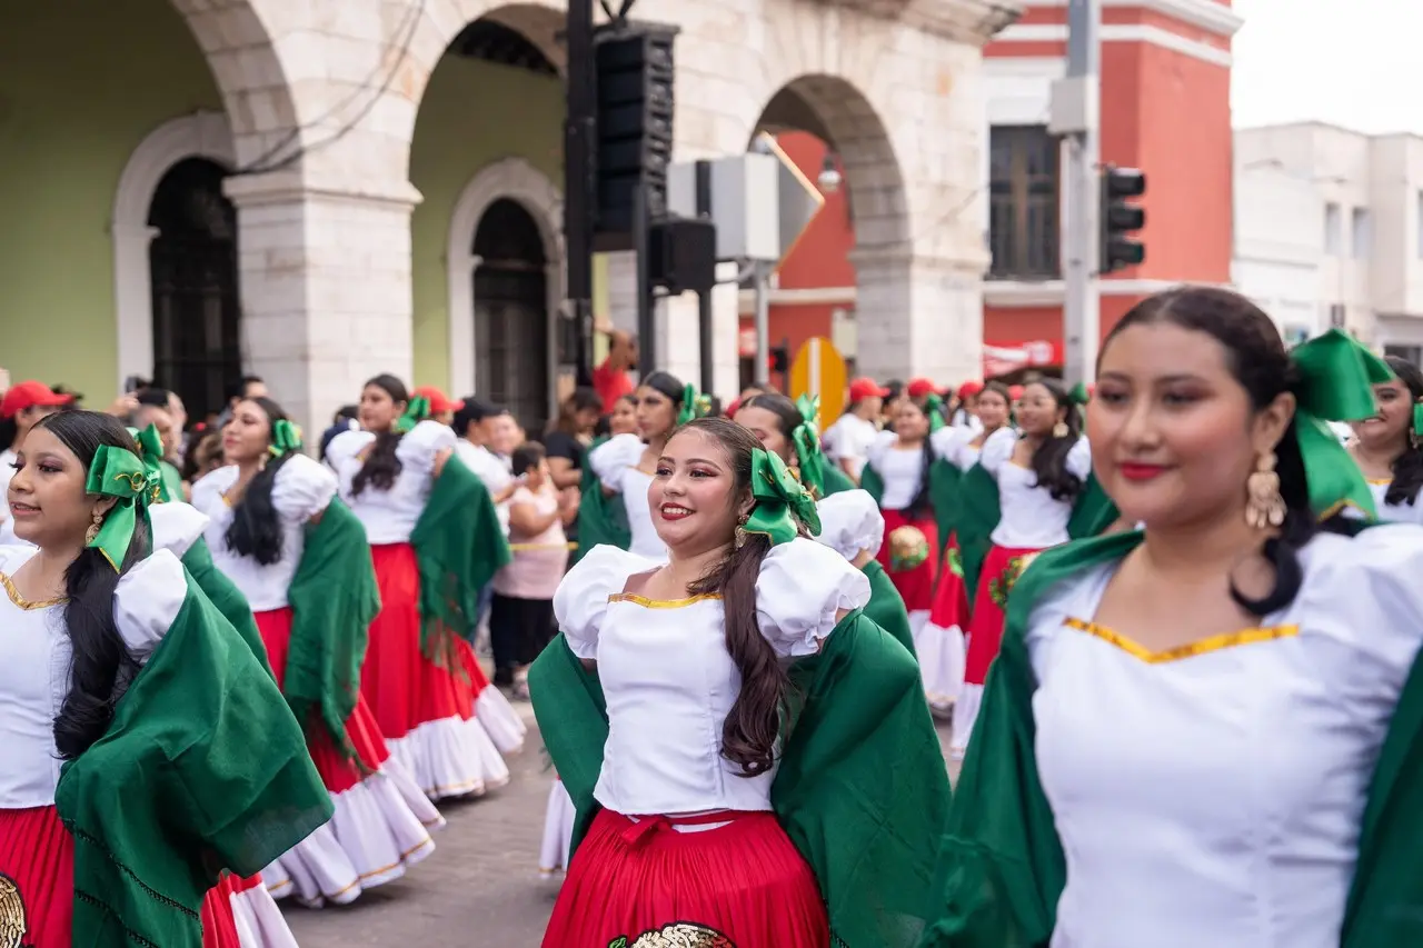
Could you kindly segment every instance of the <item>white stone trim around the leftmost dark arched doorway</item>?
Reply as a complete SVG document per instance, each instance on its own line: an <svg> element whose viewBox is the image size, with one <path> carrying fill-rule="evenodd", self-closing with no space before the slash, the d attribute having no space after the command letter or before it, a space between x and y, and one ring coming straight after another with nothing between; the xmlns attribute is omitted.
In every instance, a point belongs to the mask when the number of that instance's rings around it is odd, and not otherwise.
<svg viewBox="0 0 1423 948"><path fill-rule="evenodd" d="M148 211L164 175L186 158L236 167L232 125L225 112L194 112L164 122L145 138L118 178L110 233L114 239L114 325L118 379L154 373L154 288L148 248L158 229Z"/></svg>

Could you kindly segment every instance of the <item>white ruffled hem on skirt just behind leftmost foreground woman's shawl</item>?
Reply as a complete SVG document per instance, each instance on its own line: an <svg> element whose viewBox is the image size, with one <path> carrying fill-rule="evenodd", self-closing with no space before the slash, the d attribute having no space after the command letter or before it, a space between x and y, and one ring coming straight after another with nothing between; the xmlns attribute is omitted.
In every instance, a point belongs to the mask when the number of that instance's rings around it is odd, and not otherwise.
<svg viewBox="0 0 1423 948"><path fill-rule="evenodd" d="M262 870L275 898L290 895L309 908L353 902L434 853L430 833L444 828L444 817L394 756L333 793L332 803L329 823Z"/></svg>

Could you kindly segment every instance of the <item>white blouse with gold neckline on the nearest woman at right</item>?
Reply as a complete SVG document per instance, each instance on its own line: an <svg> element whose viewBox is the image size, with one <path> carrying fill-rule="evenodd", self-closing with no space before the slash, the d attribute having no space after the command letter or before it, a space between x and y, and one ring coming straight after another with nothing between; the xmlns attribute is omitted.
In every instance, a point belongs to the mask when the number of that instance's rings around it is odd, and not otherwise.
<svg viewBox="0 0 1423 948"><path fill-rule="evenodd" d="M1315 537L1261 628L1150 653L1049 591L1027 649L1067 857L1052 948L1338 948L1359 826L1423 642L1423 530Z"/></svg>

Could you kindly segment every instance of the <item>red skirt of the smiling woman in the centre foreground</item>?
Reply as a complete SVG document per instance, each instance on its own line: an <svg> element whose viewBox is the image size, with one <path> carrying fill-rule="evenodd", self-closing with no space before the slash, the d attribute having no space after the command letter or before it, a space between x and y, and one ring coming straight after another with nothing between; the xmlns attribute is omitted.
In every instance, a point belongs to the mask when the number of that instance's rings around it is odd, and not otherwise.
<svg viewBox="0 0 1423 948"><path fill-rule="evenodd" d="M599 811L573 855L544 948L626 938L706 948L825 948L830 922L810 865L771 813L717 813L679 826ZM665 934L640 942L643 935ZM680 939L676 937L680 935Z"/></svg>

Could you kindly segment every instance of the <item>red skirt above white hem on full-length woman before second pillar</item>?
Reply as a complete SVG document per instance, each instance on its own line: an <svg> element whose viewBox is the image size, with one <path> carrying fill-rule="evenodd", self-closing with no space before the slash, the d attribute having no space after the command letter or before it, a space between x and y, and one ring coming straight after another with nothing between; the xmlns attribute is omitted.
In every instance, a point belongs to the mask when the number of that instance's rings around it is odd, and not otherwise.
<svg viewBox="0 0 1423 948"><path fill-rule="evenodd" d="M455 668L427 659L420 646L420 565L410 544L370 548L380 613L370 623L360 690L386 740L431 720L474 716L472 688ZM468 648L468 643L465 643Z"/></svg>

